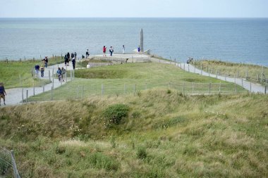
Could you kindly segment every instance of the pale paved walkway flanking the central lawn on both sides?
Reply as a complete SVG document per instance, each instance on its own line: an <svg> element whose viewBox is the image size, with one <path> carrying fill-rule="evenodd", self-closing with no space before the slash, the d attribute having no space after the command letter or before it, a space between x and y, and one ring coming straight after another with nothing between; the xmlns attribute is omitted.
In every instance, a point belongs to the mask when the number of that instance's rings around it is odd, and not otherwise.
<svg viewBox="0 0 268 178"><path fill-rule="evenodd" d="M103 58L102 55L99 56L92 56L94 58ZM265 88L261 86L260 84L255 84L252 82L248 82L245 79L241 78L232 78L232 77L225 77L225 76L219 76L219 75L214 75L210 74L208 72L205 72L203 70L199 70L195 68L193 65L186 64L186 63L174 63L172 61L164 61L159 58L151 58L150 56L147 56L145 54L138 54L138 53L126 53L126 54L121 54L121 53L114 53L113 56L106 56L106 60L110 61L116 61L119 63L125 63L126 59L128 59L128 63L142 63L142 62L148 62L152 61L154 63L166 63L166 64L174 64L178 66L178 68L181 68L182 70L188 71L188 72L193 72L197 73L199 75L204 75L208 77L214 77L218 78L219 80L224 80L226 82L233 82L244 89L247 89L248 91L254 92L254 93L266 93ZM73 65L70 63L70 66L65 67L64 63L61 63L59 65L51 65L48 68L44 70L44 77L43 79L49 79L49 71L51 74L51 83L44 85L44 87L30 87L30 88L16 88L16 89L6 89L6 105L11 106L11 105L17 105L20 104L23 99L26 98L26 93L28 91L28 97L33 96L35 94L41 94L44 91L51 91L51 87L57 88L60 87L62 84L65 84L66 82L59 82L56 78L53 79L52 73L56 73L57 68L66 68L66 70L73 70ZM39 73L40 75L40 73ZM42 79L42 77L40 77ZM67 81L70 81L71 78L68 78Z"/></svg>

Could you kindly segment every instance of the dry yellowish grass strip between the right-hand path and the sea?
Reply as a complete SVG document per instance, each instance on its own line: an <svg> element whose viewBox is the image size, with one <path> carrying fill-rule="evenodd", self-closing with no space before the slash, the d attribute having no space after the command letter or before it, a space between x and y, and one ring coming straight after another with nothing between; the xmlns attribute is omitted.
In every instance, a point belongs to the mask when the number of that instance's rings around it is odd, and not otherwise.
<svg viewBox="0 0 268 178"><path fill-rule="evenodd" d="M210 73L218 73L223 76L243 77L247 80L265 83L265 77L268 79L268 68L260 65L230 63L224 61L193 61L195 67L202 68ZM264 77L262 77L262 72ZM262 81L261 81L262 80Z"/></svg>

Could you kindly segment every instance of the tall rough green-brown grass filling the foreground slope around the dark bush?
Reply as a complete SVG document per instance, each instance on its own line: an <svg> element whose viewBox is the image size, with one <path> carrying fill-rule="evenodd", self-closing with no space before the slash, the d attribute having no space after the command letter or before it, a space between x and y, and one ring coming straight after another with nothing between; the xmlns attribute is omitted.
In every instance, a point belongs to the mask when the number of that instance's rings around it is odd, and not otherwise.
<svg viewBox="0 0 268 178"><path fill-rule="evenodd" d="M128 106L105 127L110 106ZM173 89L0 108L22 177L267 177L268 96Z"/></svg>

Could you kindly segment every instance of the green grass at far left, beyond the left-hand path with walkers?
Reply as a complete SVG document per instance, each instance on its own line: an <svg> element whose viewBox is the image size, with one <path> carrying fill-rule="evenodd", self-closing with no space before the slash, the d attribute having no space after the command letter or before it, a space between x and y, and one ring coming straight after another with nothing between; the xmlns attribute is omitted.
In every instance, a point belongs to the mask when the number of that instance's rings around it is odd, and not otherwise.
<svg viewBox="0 0 268 178"><path fill-rule="evenodd" d="M61 57L49 58L49 65L62 63ZM49 83L48 80L38 80L32 76L32 70L36 64L43 65L41 60L27 60L27 61L0 61L0 76L1 81L4 82L6 89L16 87L35 87L42 86Z"/></svg>

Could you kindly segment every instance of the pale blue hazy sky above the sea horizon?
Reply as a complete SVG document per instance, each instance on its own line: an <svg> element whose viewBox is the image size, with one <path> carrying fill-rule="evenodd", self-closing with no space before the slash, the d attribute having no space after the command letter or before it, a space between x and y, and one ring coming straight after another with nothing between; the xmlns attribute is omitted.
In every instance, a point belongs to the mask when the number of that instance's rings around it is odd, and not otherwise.
<svg viewBox="0 0 268 178"><path fill-rule="evenodd" d="M268 0L0 0L0 18L268 18Z"/></svg>

